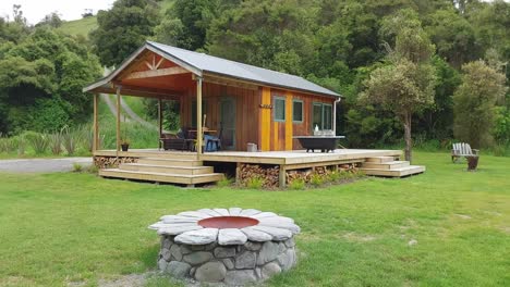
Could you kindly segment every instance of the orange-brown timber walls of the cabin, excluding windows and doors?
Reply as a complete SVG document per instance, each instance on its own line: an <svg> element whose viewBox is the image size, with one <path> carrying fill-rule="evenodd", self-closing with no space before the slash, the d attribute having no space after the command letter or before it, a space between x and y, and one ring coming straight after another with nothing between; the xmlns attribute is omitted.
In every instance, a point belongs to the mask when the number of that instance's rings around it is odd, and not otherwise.
<svg viewBox="0 0 510 287"><path fill-rule="evenodd" d="M259 87L258 90L204 83L206 126L220 130L221 99L231 97L235 100L235 147L244 151L248 142L257 144L262 151L302 149L293 136L312 135L313 103L333 104L335 99L281 89ZM272 109L276 97L286 99L286 122L275 122ZM303 101L303 122L292 121L293 100ZM181 97L181 123L192 126L192 102L196 101L196 88Z"/></svg>

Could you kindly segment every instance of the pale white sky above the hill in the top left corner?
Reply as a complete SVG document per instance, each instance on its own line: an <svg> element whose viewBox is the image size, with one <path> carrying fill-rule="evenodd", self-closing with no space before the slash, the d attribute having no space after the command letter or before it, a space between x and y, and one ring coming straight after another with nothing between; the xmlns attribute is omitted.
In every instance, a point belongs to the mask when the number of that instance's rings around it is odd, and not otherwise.
<svg viewBox="0 0 510 287"><path fill-rule="evenodd" d="M65 21L82 18L85 9L98 10L111 8L114 0L0 0L0 16L12 18L12 5L21 4L23 15L29 24L37 24L51 12L59 14Z"/></svg>

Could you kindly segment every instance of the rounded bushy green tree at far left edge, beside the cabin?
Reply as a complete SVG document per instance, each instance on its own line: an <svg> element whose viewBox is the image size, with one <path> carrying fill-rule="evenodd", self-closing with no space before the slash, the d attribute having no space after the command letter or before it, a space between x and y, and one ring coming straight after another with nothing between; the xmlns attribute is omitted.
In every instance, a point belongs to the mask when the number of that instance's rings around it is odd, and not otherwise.
<svg viewBox="0 0 510 287"><path fill-rule="evenodd" d="M83 122L92 102L82 89L98 76L99 61L88 47L49 27L0 45L0 132Z"/></svg>

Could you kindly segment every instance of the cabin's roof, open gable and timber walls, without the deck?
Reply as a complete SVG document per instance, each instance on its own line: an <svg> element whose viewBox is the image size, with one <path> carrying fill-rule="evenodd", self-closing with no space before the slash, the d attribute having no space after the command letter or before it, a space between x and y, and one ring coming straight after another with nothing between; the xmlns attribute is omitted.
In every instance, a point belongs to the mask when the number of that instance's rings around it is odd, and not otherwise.
<svg viewBox="0 0 510 287"><path fill-rule="evenodd" d="M89 92L178 100L181 126L221 130L227 150L301 149L293 136L333 129L340 95L302 77L147 41ZM197 102L202 102L201 105Z"/></svg>

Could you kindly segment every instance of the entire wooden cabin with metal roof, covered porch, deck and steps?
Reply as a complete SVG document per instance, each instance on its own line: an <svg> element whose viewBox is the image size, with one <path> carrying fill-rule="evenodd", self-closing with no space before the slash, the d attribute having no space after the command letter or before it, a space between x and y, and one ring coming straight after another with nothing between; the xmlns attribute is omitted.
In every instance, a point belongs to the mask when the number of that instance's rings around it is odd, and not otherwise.
<svg viewBox="0 0 510 287"><path fill-rule="evenodd" d="M425 171L424 166L396 161L401 154L398 150L301 150L293 137L313 135L315 128L336 130L340 95L299 76L205 53L147 41L84 91L94 93L93 153L104 177L194 186L220 180L224 173L242 184L243 178L253 176L252 171L257 171L265 187L283 187L289 178L316 169L362 167L366 174L399 177ZM100 148L99 93L117 95L116 150ZM159 100L160 138L162 101L179 101L180 125L195 129L196 135L204 135L206 128L216 133L221 151L204 153L198 148L175 152L139 147L121 151L122 96ZM158 140L155 138L155 142ZM203 141L202 136L196 136L193 147L204 147ZM257 151L247 152L248 144L257 145Z"/></svg>

